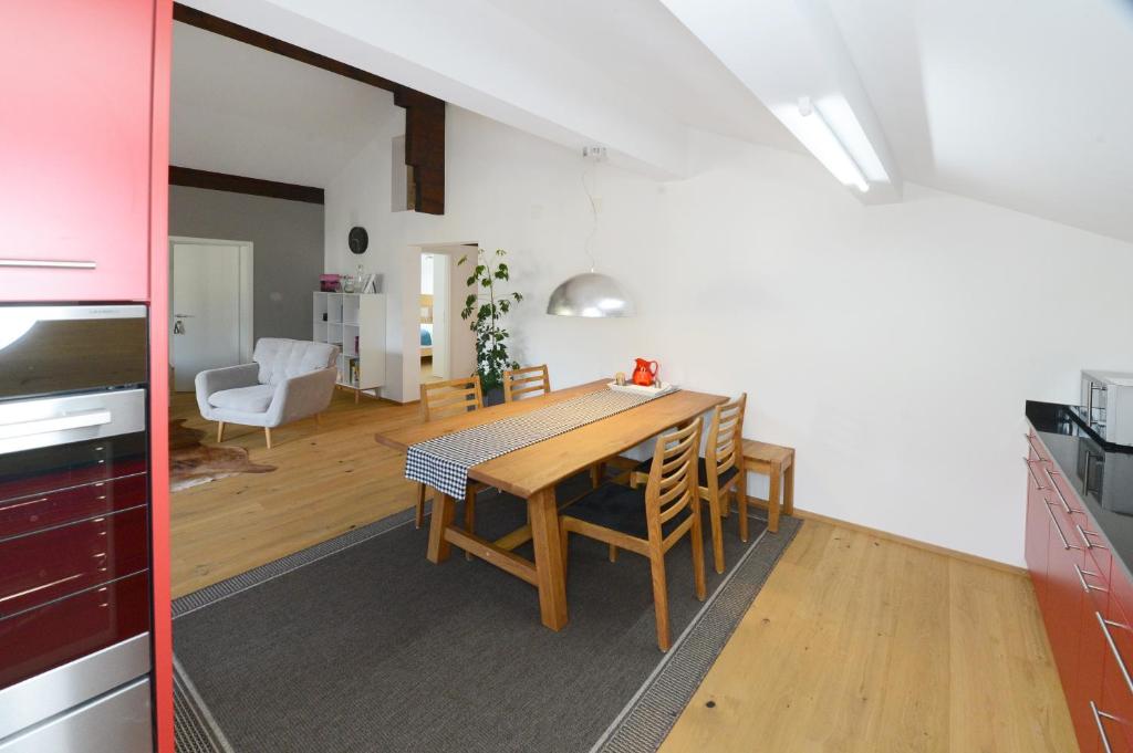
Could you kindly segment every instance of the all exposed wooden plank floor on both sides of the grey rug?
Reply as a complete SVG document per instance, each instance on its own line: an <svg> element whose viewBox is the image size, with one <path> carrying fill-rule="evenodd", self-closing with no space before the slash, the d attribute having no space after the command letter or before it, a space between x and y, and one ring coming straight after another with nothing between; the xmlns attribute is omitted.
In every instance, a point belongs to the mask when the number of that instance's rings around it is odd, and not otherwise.
<svg viewBox="0 0 1133 753"><path fill-rule="evenodd" d="M174 418L210 428L191 395ZM173 495L184 596L409 507L402 457L374 433L416 405L346 393L323 427L232 427L225 444L279 470ZM710 704L710 705L709 705ZM1070 715L1029 581L808 521L663 751L1067 753Z"/></svg>

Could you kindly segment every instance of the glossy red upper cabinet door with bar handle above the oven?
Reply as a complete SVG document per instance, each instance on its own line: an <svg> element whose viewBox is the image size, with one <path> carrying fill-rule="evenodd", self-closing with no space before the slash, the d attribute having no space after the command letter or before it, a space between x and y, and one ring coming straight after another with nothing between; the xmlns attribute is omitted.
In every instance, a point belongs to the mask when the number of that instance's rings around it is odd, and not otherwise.
<svg viewBox="0 0 1133 753"><path fill-rule="evenodd" d="M154 18L0 2L0 300L146 299Z"/></svg>

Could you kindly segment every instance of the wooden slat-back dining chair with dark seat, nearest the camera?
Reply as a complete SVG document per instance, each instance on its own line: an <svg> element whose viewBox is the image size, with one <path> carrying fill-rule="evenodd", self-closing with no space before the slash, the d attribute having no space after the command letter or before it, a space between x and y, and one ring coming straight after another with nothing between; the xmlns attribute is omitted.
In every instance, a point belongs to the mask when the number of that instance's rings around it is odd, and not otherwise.
<svg viewBox="0 0 1133 753"><path fill-rule="evenodd" d="M691 536L696 594L705 600L705 555L697 493L697 456L702 421L695 419L657 437L649 472L641 473L645 488L607 482L583 495L560 520L563 566L571 533L637 553L649 559L653 602L657 621L657 645L667 651L668 585L665 553L685 534Z"/></svg>

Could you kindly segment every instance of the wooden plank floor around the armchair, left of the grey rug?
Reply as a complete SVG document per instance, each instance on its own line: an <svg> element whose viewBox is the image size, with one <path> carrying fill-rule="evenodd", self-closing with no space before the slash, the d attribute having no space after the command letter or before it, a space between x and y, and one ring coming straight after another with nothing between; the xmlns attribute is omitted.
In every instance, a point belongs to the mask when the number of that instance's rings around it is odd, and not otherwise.
<svg viewBox="0 0 1133 753"><path fill-rule="evenodd" d="M174 393L172 418L208 430L191 394ZM402 476L404 457L374 442L374 434L420 420L416 404L395 405L335 393L314 419L264 431L225 427L224 444L247 448L271 473L242 473L172 495L170 538L173 598L373 523L414 504L416 487Z"/></svg>

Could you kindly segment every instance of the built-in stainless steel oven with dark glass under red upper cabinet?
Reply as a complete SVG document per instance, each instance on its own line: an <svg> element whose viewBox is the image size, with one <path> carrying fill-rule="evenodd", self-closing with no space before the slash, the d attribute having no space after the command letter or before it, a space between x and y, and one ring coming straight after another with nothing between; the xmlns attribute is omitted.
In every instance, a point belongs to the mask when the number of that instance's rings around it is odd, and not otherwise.
<svg viewBox="0 0 1133 753"><path fill-rule="evenodd" d="M0 753L153 751L144 306L0 306Z"/></svg>

